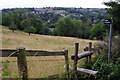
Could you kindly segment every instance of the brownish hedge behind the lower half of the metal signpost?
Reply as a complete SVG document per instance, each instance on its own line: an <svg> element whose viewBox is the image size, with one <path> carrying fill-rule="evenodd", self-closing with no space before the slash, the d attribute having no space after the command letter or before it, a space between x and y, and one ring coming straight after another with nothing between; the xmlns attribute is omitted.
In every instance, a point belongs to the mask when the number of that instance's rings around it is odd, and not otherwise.
<svg viewBox="0 0 120 80"><path fill-rule="evenodd" d="M111 59L116 61L120 57L120 35L112 37ZM104 59L107 60L109 50L109 37L105 37L102 43L97 43L95 48L104 53Z"/></svg>

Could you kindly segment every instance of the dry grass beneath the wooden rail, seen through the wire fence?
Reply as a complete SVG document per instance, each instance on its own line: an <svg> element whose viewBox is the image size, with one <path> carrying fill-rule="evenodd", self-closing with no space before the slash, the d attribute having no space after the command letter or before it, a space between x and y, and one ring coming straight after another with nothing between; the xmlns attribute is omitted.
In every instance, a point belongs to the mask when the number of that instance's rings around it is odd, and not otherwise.
<svg viewBox="0 0 120 80"><path fill-rule="evenodd" d="M11 56L11 55L10 55ZM8 69L18 74L17 58L4 57L0 63L8 62ZM65 72L65 58L61 56L27 56L29 78L44 78Z"/></svg>

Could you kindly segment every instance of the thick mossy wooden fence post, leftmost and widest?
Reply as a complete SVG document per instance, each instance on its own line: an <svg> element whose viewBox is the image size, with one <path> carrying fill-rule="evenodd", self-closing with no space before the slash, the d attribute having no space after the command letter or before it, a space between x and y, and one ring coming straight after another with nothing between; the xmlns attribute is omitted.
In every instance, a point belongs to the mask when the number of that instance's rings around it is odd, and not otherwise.
<svg viewBox="0 0 120 80"><path fill-rule="evenodd" d="M18 60L19 76L20 76L20 78L22 76L22 80L28 80L25 48L24 47L18 47L17 50L18 50L17 60Z"/></svg>

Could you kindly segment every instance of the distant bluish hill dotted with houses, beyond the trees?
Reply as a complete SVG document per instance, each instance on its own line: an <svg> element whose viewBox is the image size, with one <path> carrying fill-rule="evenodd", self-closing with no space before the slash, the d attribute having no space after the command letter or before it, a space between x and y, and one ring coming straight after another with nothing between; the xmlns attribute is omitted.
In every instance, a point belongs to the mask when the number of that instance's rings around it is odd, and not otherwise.
<svg viewBox="0 0 120 80"><path fill-rule="evenodd" d="M18 8L12 9L3 9L2 12L8 13L14 11ZM41 18L43 21L47 21L47 26L55 27L56 21L60 17L70 16L71 18L76 19L99 19L102 20L105 18L106 11L104 8L64 8L64 7L44 7L44 8L24 8L28 12L33 13L38 18Z"/></svg>

